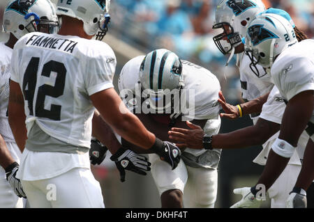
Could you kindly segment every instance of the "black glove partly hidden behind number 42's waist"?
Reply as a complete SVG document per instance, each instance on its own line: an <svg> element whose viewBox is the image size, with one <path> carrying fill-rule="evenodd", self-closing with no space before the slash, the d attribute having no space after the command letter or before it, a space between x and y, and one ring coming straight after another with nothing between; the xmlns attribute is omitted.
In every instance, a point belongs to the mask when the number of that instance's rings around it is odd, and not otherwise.
<svg viewBox="0 0 314 222"><path fill-rule="evenodd" d="M108 148L100 143L96 138L91 138L91 148L89 149L89 159L91 164L101 164L106 157Z"/></svg>

